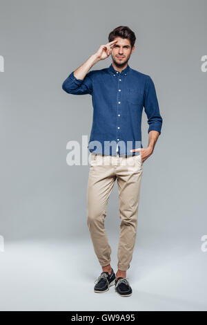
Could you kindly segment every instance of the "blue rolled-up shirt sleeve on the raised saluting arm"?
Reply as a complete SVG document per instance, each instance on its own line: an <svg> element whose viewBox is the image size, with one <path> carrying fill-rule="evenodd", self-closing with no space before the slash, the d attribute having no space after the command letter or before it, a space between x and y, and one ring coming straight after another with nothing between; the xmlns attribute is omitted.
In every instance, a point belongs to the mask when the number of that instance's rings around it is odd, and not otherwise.
<svg viewBox="0 0 207 325"><path fill-rule="evenodd" d="M88 72L84 79L77 79L72 71L63 82L62 89L72 95L92 95L92 71Z"/></svg>

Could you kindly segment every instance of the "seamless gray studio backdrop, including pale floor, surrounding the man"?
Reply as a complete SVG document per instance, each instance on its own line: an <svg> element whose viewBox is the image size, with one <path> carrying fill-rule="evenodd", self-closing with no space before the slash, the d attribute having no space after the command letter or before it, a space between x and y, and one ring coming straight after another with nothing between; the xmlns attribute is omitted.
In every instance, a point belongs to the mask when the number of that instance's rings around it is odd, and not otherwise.
<svg viewBox="0 0 207 325"><path fill-rule="evenodd" d="M0 5L1 310L207 310L207 252L201 251L207 234L207 73L201 72L206 1ZM114 288L93 293L101 267L86 224L89 165L66 164L67 142L89 139L92 101L61 89L117 26L135 31L128 63L152 77L164 120L155 151L144 162L137 241L127 272L133 295L125 301ZM110 63L111 57L92 69ZM143 113L144 147L147 130ZM117 183L106 231L116 272Z"/></svg>

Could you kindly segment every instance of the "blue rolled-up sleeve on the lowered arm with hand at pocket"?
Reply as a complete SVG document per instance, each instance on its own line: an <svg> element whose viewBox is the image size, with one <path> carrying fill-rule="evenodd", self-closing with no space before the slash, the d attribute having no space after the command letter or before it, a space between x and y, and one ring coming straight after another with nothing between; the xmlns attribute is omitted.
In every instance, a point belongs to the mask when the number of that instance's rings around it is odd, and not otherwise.
<svg viewBox="0 0 207 325"><path fill-rule="evenodd" d="M148 133L152 130L155 130L161 134L161 126L163 120L159 112L159 104L155 91L155 84L152 82L150 76L148 76L148 81L146 82L146 89L144 93L144 109L148 117Z"/></svg>

